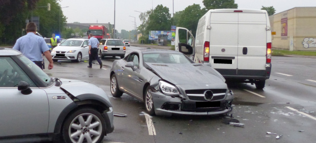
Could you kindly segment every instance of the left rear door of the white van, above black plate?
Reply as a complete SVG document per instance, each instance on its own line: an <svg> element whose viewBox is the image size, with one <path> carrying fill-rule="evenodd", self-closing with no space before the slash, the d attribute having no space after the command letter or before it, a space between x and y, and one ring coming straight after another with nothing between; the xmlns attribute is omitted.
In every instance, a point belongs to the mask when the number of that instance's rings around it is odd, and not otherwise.
<svg viewBox="0 0 316 143"><path fill-rule="evenodd" d="M225 75L236 75L238 62L238 13L212 12L209 62Z"/></svg>

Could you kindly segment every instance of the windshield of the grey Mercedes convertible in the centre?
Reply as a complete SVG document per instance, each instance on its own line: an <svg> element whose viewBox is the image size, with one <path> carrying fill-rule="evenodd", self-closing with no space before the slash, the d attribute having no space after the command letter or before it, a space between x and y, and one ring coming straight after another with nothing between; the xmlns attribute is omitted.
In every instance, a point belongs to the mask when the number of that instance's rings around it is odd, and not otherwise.
<svg viewBox="0 0 316 143"><path fill-rule="evenodd" d="M176 53L144 54L143 60L150 63L192 63L185 55Z"/></svg>

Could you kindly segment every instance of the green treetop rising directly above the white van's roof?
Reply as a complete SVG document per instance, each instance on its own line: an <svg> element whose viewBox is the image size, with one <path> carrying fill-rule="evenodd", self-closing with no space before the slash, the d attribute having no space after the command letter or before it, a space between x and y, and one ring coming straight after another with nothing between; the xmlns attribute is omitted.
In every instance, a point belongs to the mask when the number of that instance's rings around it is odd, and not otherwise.
<svg viewBox="0 0 316 143"><path fill-rule="evenodd" d="M238 8L235 0L203 0L206 9Z"/></svg>

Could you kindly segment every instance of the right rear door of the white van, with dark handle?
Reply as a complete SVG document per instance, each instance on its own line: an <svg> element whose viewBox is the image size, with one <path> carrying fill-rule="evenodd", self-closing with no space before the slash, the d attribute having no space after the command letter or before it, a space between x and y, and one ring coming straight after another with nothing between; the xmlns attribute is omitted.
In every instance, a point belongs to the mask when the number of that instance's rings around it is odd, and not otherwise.
<svg viewBox="0 0 316 143"><path fill-rule="evenodd" d="M237 75L265 75L266 13L238 13Z"/></svg>

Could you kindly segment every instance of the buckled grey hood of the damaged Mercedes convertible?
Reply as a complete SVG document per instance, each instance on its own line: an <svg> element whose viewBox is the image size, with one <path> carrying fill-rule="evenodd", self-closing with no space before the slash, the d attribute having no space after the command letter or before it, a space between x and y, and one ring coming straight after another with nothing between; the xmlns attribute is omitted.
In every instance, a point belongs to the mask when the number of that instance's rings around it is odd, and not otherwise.
<svg viewBox="0 0 316 143"><path fill-rule="evenodd" d="M209 65L147 63L163 80L180 84L223 84L225 79Z"/></svg>

